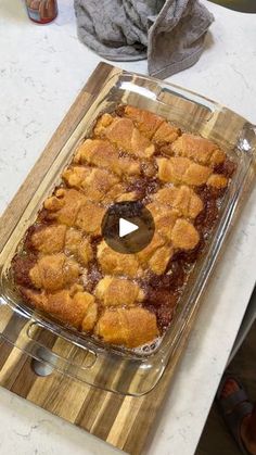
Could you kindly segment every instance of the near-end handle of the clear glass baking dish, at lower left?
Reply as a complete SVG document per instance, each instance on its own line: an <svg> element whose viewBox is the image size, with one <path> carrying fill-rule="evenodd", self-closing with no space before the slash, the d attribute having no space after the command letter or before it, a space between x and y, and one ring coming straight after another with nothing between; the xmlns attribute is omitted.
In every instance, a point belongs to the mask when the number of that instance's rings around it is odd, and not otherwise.
<svg viewBox="0 0 256 455"><path fill-rule="evenodd" d="M42 327L30 314L0 301L0 337L51 370L89 386L140 396L162 377L166 362L157 356L125 357L105 349L84 346ZM4 327L3 327L3 320Z"/></svg>

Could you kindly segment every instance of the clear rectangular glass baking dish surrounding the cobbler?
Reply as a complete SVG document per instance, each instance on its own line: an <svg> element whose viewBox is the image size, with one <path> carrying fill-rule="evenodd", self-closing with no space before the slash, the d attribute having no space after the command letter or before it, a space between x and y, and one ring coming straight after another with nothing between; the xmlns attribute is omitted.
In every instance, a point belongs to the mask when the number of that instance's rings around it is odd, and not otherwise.
<svg viewBox="0 0 256 455"><path fill-rule="evenodd" d="M171 326L153 351L108 346L33 311L22 302L10 273L18 243L36 219L43 200L60 182L60 175L71 162L75 149L90 134L99 115L114 111L119 104L146 109L183 130L209 138L236 163L236 172L222 200L218 220L189 276ZM110 75L43 179L38 182L37 191L0 254L0 315L4 316L0 318L1 337L33 358L43 361L56 370L91 386L133 396L151 391L167 363L171 362L188 326L192 324L234 214L243 205L253 181L255 132L255 126L241 116L180 87L137 74L120 72Z"/></svg>

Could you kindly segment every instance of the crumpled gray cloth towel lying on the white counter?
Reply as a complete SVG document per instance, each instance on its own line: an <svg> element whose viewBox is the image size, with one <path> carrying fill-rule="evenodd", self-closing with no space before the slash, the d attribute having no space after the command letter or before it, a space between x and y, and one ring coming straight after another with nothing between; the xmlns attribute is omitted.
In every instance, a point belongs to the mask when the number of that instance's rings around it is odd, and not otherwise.
<svg viewBox="0 0 256 455"><path fill-rule="evenodd" d="M148 58L166 78L200 59L214 16L197 0L75 0L78 36L114 61Z"/></svg>

